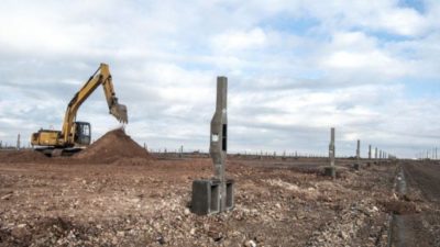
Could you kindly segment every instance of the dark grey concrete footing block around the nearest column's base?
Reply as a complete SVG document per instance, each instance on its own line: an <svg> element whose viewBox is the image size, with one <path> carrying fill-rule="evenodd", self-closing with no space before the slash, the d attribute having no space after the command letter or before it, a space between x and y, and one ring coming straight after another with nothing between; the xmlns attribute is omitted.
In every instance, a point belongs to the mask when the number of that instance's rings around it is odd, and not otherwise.
<svg viewBox="0 0 440 247"><path fill-rule="evenodd" d="M209 215L220 213L221 209L221 190L220 180L204 179L193 181L191 212L198 215ZM234 202L234 181L229 179L226 181L226 209L232 210Z"/></svg>

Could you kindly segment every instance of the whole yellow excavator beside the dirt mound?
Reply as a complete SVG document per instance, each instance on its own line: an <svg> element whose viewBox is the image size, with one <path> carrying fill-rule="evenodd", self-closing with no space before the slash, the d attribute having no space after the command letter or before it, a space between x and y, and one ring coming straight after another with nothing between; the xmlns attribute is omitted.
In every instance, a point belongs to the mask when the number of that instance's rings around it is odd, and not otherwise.
<svg viewBox="0 0 440 247"><path fill-rule="evenodd" d="M109 105L110 114L119 122L128 123L127 106L118 102L114 94L113 82L109 66L101 64L96 72L86 81L82 88L74 96L67 105L64 116L63 130L40 130L32 134L31 144L36 150L48 156L69 155L90 145L90 123L77 122L76 113L87 98L102 85Z"/></svg>

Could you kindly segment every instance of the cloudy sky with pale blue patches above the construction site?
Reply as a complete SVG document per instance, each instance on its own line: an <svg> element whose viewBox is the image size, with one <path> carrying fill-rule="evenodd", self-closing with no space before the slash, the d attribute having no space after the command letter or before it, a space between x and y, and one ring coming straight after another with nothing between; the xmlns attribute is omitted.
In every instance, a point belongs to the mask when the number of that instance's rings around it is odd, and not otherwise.
<svg viewBox="0 0 440 247"><path fill-rule="evenodd" d="M150 148L207 150L216 78L231 151L400 157L439 145L440 1L14 1L0 9L0 139L59 130L101 61ZM119 126L101 89L94 139Z"/></svg>

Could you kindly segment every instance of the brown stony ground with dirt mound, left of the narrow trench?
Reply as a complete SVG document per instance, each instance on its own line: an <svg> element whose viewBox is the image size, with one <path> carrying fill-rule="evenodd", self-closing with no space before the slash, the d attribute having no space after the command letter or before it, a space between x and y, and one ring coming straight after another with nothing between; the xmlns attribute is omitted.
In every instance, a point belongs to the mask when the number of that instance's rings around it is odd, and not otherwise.
<svg viewBox="0 0 440 247"><path fill-rule="evenodd" d="M69 158L0 151L0 246L387 246L407 202L392 192L396 165L352 162L332 180L326 159L231 156L234 210L197 216L208 158L157 158L120 131Z"/></svg>

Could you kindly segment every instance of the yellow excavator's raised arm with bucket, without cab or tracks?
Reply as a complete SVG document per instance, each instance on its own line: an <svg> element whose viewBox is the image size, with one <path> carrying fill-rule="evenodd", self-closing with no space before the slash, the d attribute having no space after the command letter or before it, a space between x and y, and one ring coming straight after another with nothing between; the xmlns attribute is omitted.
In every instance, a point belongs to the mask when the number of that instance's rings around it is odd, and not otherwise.
<svg viewBox="0 0 440 247"><path fill-rule="evenodd" d="M66 114L64 116L62 136L65 144L74 143L75 135L75 120L78 109L87 100L87 98L97 89L100 85L103 87L107 103L109 105L109 112L121 123L128 123L127 106L118 102L116 97L113 82L111 79L109 66L101 64L97 71L89 78L89 80L82 86L82 88L75 94L67 105Z"/></svg>

